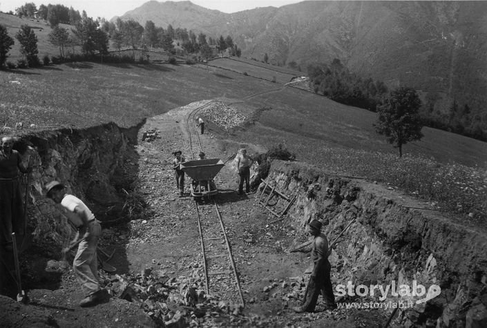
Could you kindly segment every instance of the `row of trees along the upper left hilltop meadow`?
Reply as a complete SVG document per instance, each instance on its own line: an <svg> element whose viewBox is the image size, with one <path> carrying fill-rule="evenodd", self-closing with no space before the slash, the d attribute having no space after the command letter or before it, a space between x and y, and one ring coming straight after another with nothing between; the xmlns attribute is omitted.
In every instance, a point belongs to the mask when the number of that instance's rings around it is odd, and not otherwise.
<svg viewBox="0 0 487 328"><path fill-rule="evenodd" d="M76 60L93 59L98 56L102 60L111 60L108 53L108 47L111 42L112 46L121 54L122 48L128 47L133 50L132 57L122 56L124 61L135 61L135 50L142 50L139 58L140 62L149 59L149 48L162 48L171 55L198 55L198 59L209 59L214 55L213 49L218 52L228 51L229 55L241 55L241 50L230 36L213 39L200 32L196 35L192 30L186 28L173 28L170 24L166 29L155 26L153 21L146 21L145 27L133 19L111 22L105 19L93 19L86 15L83 10L82 14L72 7L67 8L62 5L41 5L39 8L34 3L26 3L16 9L19 17L37 17L48 21L51 32L48 35L48 41L59 48L59 57L52 57L52 62L61 62L66 60L66 49L71 48L69 57ZM65 28L60 24L70 24L74 28ZM21 43L21 53L24 57L25 66L37 66L40 60L37 57L37 37L32 28L28 25L21 26L22 33L30 37L25 41L25 37L19 39ZM13 45L13 39L8 36L5 26L0 26L0 67L5 66L7 53ZM27 43L26 43L27 42ZM75 55L75 46L81 47L82 56ZM177 47L176 47L177 46ZM50 60L44 57L44 63ZM171 60L170 60L171 61ZM174 59L175 62L175 59ZM14 66L8 63L8 66ZM19 62L17 66L24 66Z"/></svg>

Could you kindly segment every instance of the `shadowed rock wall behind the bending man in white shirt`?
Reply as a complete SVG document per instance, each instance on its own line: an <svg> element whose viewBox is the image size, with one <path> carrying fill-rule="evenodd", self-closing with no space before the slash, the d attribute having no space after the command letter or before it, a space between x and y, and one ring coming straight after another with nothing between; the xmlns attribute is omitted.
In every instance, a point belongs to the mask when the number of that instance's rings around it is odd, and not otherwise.
<svg viewBox="0 0 487 328"><path fill-rule="evenodd" d="M115 124L26 135L16 146L24 164L30 162L33 167L27 220L37 240L61 242L71 231L59 207L45 197L44 186L52 180L65 184L68 193L82 199L98 220L120 212L122 200L114 186L121 183L128 137Z"/></svg>

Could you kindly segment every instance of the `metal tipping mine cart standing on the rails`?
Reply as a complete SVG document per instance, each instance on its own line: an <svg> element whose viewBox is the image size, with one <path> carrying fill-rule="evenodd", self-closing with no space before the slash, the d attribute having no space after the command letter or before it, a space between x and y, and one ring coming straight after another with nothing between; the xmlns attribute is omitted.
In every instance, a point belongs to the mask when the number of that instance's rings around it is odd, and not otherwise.
<svg viewBox="0 0 487 328"><path fill-rule="evenodd" d="M186 173L193 182L191 182L191 196L208 197L218 193L213 178L220 172L223 164L222 160L216 158L213 160L193 160L180 164L184 173Z"/></svg>

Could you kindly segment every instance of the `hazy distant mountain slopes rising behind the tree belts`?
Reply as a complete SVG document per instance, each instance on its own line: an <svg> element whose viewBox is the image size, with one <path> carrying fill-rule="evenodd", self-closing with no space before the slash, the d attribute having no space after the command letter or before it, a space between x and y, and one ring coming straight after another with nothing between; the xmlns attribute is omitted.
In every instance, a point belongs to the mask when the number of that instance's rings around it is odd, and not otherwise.
<svg viewBox="0 0 487 328"><path fill-rule="evenodd" d="M303 1L233 14L149 1L121 18L230 35L243 57L267 53L273 64L338 58L364 77L420 90L442 113L453 99L487 103L487 1Z"/></svg>

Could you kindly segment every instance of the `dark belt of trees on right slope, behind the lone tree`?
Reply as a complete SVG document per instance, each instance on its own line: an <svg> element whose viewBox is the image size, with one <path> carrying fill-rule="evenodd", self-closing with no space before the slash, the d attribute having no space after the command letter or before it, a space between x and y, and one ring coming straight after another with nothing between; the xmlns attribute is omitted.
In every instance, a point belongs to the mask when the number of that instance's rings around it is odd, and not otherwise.
<svg viewBox="0 0 487 328"><path fill-rule="evenodd" d="M315 93L341 104L376 112L390 95L383 81L362 79L350 73L339 59L334 59L331 64L309 65L307 71ZM481 115L479 109L474 110L468 104L458 104L455 99L450 108L441 112L435 110L436 101L431 96L426 97L425 104L419 106L421 124L487 141L487 115Z"/></svg>

